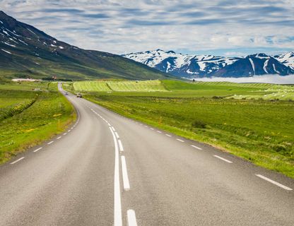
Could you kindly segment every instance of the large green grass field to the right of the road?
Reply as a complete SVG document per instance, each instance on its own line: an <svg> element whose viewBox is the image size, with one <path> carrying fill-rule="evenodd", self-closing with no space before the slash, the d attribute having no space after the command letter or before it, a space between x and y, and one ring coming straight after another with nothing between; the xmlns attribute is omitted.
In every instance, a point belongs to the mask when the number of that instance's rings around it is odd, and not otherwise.
<svg viewBox="0 0 294 226"><path fill-rule="evenodd" d="M180 81L162 81L162 85L170 92L98 92L85 97L124 116L209 143L294 178L294 102L261 99L265 93L293 87ZM227 99L253 93L261 98Z"/></svg>

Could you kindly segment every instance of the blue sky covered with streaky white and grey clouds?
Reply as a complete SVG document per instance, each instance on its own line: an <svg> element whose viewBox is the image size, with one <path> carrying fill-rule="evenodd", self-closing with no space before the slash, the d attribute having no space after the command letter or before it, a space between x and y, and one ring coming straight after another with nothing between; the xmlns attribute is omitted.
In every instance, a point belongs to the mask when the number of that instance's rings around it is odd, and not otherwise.
<svg viewBox="0 0 294 226"><path fill-rule="evenodd" d="M0 8L58 40L116 54L294 51L294 0L0 0Z"/></svg>

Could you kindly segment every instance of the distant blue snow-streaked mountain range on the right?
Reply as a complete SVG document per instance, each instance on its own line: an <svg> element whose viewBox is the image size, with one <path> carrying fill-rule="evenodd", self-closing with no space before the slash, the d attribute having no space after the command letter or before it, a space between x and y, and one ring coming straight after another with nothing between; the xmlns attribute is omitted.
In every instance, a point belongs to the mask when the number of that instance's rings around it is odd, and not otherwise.
<svg viewBox="0 0 294 226"><path fill-rule="evenodd" d="M254 75L293 74L293 55L271 57L266 54L252 54L247 57L216 57L213 55L177 54L161 49L123 54L160 71L185 78L203 77L248 77ZM288 63L286 63L286 61Z"/></svg>

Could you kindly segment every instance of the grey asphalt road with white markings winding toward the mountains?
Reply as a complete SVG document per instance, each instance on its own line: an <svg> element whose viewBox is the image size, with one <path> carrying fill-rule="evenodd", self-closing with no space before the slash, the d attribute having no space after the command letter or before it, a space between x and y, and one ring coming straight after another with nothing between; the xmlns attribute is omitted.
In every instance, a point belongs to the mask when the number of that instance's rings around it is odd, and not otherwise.
<svg viewBox="0 0 294 226"><path fill-rule="evenodd" d="M0 166L0 225L294 225L294 180L66 96L65 133Z"/></svg>

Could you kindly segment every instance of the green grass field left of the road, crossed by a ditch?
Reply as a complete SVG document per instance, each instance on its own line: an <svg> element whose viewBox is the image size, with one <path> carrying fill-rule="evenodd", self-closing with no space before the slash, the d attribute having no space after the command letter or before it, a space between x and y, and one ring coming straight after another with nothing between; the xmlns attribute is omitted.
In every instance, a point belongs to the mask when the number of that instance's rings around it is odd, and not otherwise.
<svg viewBox="0 0 294 226"><path fill-rule="evenodd" d="M0 163L64 131L75 117L57 83L0 85Z"/></svg>

